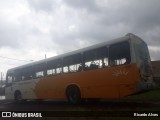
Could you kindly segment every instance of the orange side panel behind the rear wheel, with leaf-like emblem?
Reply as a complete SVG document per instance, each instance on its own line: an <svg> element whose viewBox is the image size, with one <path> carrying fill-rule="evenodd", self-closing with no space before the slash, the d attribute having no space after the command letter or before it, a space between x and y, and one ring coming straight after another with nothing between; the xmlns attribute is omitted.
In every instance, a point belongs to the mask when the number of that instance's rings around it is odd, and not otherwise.
<svg viewBox="0 0 160 120"><path fill-rule="evenodd" d="M140 80L136 64L95 70L90 76L88 87L84 86L85 98L124 97L136 92L137 82Z"/></svg>

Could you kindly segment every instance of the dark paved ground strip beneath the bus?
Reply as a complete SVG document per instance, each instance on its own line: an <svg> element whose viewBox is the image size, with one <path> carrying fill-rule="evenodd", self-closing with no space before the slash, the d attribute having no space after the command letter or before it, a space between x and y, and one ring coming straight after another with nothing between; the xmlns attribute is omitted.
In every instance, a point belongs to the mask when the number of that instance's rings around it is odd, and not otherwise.
<svg viewBox="0 0 160 120"><path fill-rule="evenodd" d="M63 100L48 101L0 101L0 111L152 111L160 110L160 102L101 101L70 105Z"/></svg>

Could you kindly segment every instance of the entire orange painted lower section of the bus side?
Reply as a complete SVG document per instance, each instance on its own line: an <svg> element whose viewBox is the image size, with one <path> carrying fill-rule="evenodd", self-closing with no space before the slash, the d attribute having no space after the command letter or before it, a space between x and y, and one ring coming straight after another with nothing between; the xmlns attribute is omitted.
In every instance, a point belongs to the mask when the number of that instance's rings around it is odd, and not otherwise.
<svg viewBox="0 0 160 120"><path fill-rule="evenodd" d="M68 85L76 84L82 98L119 98L136 92L140 75L136 64L46 77L35 93L40 99L65 98Z"/></svg>

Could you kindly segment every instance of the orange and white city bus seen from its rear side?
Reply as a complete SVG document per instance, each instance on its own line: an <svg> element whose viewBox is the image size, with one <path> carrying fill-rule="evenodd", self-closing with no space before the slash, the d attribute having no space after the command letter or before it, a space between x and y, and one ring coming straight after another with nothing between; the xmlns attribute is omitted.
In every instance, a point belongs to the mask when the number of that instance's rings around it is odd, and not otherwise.
<svg viewBox="0 0 160 120"><path fill-rule="evenodd" d="M127 35L9 69L5 98L120 99L154 87L147 44Z"/></svg>

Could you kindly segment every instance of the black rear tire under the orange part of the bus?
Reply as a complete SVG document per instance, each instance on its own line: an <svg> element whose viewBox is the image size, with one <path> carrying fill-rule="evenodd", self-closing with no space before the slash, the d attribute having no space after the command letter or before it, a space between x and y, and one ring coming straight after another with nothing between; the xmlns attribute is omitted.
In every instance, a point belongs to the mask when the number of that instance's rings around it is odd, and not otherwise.
<svg viewBox="0 0 160 120"><path fill-rule="evenodd" d="M81 93L76 85L71 85L66 90L68 102L71 104L79 104L81 102Z"/></svg>

